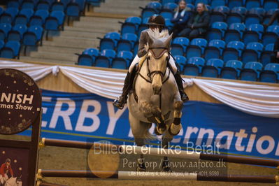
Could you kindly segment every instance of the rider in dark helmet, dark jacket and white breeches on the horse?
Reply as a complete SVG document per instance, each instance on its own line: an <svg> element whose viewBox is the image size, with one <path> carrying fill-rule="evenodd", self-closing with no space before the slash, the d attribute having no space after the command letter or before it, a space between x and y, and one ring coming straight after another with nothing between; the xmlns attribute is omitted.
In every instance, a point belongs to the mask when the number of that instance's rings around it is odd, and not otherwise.
<svg viewBox="0 0 279 186"><path fill-rule="evenodd" d="M147 51L145 51L145 45L150 41L150 36L148 34L148 31L159 29L161 32L165 27L165 20L164 17L161 15L152 15L148 20L149 29L145 29L141 32L141 36L138 43L138 55L134 58L133 62L131 63L131 66L129 67L127 76L124 80L124 87L122 90L122 95L115 99L113 102L113 105L117 108L122 109L124 107L124 104L127 102L127 96L129 93L129 90L131 90L134 77L136 76L136 64L140 61L139 59L146 55ZM173 57L171 56L169 59L169 64L171 66L171 71L173 71L173 75L176 78L176 84L178 85L178 90L180 92L181 100L183 102L186 102L189 100L187 94L185 94L183 89L183 82L182 78L180 76L180 73L176 67L176 64L174 62Z"/></svg>

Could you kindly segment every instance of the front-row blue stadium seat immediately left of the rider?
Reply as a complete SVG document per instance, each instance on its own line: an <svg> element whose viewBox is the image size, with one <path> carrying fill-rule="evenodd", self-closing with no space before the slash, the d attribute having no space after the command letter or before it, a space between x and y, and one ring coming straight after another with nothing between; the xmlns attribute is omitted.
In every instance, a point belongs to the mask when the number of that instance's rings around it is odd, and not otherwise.
<svg viewBox="0 0 279 186"><path fill-rule="evenodd" d="M114 69L127 69L131 60L133 58L133 53L129 51L120 51L117 57L113 59L112 68Z"/></svg>

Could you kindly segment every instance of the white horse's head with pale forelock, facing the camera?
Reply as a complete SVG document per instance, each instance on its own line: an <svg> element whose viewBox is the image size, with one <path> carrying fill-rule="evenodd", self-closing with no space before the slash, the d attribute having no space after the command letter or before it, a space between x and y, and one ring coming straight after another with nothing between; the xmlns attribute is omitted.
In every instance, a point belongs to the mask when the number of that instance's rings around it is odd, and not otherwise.
<svg viewBox="0 0 279 186"><path fill-rule="evenodd" d="M155 38L150 36L148 45L148 76L152 82L153 94L160 94L162 90L162 80L166 73L166 65L169 62L169 46L171 36Z"/></svg>

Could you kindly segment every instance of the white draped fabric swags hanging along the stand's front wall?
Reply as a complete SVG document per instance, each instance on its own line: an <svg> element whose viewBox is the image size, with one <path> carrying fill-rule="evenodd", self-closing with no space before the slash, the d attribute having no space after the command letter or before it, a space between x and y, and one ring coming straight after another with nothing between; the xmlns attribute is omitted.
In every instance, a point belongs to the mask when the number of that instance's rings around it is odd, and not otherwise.
<svg viewBox="0 0 279 186"><path fill-rule="evenodd" d="M0 69L5 68L23 71L34 80L40 80L49 73L56 75L61 71L85 90L108 99L115 99L121 94L126 76L126 73L116 71L0 60ZM185 78L185 86L191 86L193 83L215 99L245 113L279 118L279 87Z"/></svg>

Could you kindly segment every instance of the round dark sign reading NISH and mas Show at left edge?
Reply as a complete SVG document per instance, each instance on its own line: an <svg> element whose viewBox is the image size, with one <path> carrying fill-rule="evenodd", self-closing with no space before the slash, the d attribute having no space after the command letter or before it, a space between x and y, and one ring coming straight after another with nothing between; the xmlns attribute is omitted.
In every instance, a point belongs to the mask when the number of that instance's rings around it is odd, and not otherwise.
<svg viewBox="0 0 279 186"><path fill-rule="evenodd" d="M0 134L28 129L41 111L41 93L30 76L15 69L0 69Z"/></svg>

